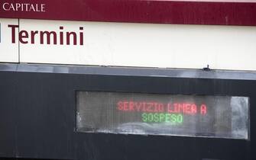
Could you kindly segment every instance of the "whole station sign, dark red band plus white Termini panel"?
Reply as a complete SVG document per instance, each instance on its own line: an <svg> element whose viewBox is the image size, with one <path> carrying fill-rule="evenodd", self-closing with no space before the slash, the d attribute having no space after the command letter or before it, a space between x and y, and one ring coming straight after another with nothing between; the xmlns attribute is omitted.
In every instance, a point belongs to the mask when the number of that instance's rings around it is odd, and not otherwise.
<svg viewBox="0 0 256 160"><path fill-rule="evenodd" d="M4 0L0 62L256 70L255 14L251 0Z"/></svg>

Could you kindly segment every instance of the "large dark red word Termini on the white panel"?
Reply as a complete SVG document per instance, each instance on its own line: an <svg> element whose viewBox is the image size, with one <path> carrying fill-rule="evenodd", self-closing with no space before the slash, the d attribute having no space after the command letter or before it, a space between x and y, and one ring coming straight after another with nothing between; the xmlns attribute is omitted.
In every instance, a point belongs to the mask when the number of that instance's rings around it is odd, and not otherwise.
<svg viewBox="0 0 256 160"><path fill-rule="evenodd" d="M11 43L16 43L16 36L18 25L9 24L8 27L11 28ZM20 30L18 31L18 40L20 43L31 43L34 44L35 40L39 40L40 44L44 44L46 37L47 44L66 44L70 45L70 41L73 40L73 45L77 44L79 41L79 45L83 45L83 27L79 27L79 33L77 34L75 31L64 31L64 27L60 26L60 30L57 34L56 31L47 31L47 30ZM66 42L66 43L64 43Z"/></svg>

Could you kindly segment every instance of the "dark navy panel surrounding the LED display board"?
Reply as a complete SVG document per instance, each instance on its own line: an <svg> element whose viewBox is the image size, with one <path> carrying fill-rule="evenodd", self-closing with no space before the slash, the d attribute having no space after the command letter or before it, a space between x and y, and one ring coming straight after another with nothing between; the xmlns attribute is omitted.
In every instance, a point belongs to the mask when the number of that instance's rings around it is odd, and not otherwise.
<svg viewBox="0 0 256 160"><path fill-rule="evenodd" d="M255 88L254 80L228 78L0 71L0 156L253 160L256 159ZM251 140L76 133L77 90L248 96Z"/></svg>

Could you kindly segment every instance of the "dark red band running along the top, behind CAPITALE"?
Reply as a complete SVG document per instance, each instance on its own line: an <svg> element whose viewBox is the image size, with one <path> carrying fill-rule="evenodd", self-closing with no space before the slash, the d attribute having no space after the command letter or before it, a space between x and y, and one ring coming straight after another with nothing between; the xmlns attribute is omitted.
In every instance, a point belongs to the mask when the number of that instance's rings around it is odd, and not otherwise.
<svg viewBox="0 0 256 160"><path fill-rule="evenodd" d="M4 11L5 2L46 4L45 12ZM4 0L0 18L160 24L256 25L256 3L152 0Z"/></svg>

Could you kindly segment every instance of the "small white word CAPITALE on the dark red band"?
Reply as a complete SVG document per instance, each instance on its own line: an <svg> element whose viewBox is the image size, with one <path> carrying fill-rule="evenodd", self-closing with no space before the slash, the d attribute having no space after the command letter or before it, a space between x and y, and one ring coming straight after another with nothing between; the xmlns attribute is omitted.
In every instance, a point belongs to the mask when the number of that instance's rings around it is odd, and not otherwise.
<svg viewBox="0 0 256 160"><path fill-rule="evenodd" d="M2 8L5 11L33 11L45 12L45 4L30 4L30 3L4 3Z"/></svg>

